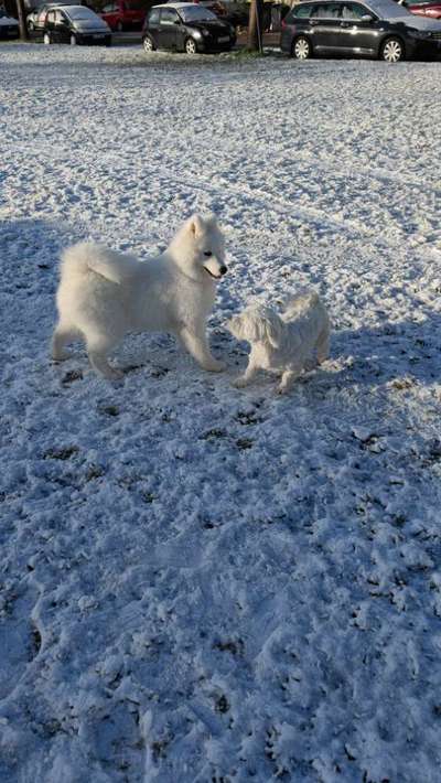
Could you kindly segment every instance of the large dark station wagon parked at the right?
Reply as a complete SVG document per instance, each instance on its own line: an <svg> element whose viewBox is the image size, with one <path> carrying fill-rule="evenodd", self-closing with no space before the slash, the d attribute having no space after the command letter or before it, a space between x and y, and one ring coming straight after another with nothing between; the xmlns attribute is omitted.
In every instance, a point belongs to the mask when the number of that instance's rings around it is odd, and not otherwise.
<svg viewBox="0 0 441 783"><path fill-rule="evenodd" d="M379 57L389 63L440 51L441 25L394 0L301 2L282 22L280 46L298 60L314 54Z"/></svg>

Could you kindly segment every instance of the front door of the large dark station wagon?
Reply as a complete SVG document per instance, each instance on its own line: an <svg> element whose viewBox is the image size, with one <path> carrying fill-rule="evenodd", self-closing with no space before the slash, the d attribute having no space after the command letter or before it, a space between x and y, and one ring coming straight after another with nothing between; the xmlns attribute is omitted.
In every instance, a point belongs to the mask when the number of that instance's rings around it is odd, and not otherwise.
<svg viewBox="0 0 441 783"><path fill-rule="evenodd" d="M379 20L366 6L342 3L341 46L348 54L375 54L379 28Z"/></svg>

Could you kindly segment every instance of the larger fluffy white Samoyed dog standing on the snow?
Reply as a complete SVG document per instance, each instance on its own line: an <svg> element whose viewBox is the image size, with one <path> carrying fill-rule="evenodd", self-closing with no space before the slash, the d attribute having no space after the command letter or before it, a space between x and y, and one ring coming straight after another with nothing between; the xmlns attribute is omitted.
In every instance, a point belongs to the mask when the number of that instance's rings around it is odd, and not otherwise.
<svg viewBox="0 0 441 783"><path fill-rule="evenodd" d="M226 271L214 216L191 217L168 249L146 262L103 245L74 245L62 259L52 356L67 358L65 344L82 336L93 367L117 379L122 372L109 365L108 354L127 332L171 332L201 367L219 372L225 365L212 355L205 330Z"/></svg>

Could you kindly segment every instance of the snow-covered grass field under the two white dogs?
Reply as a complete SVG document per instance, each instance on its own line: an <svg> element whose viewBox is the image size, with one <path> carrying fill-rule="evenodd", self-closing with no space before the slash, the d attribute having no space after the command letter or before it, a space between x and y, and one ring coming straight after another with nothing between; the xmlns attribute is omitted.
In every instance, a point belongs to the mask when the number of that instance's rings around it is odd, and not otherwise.
<svg viewBox="0 0 441 783"><path fill-rule="evenodd" d="M1 783L439 783L440 63L7 45ZM57 259L213 210L227 372L133 335L53 365ZM311 283L332 357L232 380Z"/></svg>

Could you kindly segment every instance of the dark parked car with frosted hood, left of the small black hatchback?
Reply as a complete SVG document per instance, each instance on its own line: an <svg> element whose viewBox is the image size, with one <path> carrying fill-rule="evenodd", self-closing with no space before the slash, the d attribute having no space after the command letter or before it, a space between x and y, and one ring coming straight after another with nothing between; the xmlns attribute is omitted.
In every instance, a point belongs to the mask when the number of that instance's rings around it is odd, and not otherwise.
<svg viewBox="0 0 441 783"><path fill-rule="evenodd" d="M43 31L45 44L111 44L107 22L85 6L52 6L46 13Z"/></svg>

